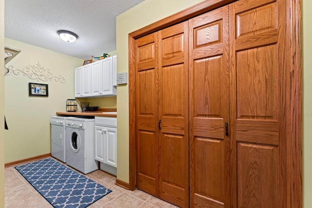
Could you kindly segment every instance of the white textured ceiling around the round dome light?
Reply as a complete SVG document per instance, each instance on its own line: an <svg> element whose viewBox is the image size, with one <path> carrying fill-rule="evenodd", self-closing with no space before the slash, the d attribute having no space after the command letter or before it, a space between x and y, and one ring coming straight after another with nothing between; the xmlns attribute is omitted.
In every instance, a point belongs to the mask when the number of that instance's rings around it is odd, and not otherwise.
<svg viewBox="0 0 312 208"><path fill-rule="evenodd" d="M143 0L5 0L5 37L82 59L116 50L116 16ZM78 35L74 43L58 30Z"/></svg>

